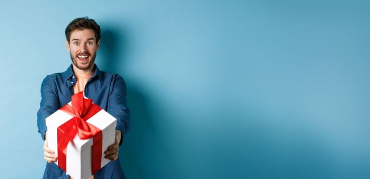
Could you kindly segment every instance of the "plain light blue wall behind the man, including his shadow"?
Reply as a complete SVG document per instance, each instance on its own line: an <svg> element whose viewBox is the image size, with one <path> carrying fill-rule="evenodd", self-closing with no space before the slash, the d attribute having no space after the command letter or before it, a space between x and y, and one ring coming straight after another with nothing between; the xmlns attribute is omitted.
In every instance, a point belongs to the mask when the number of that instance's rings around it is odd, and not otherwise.
<svg viewBox="0 0 370 179"><path fill-rule="evenodd" d="M41 178L40 84L83 16L127 82L127 178L369 178L369 5L2 1L2 178Z"/></svg>

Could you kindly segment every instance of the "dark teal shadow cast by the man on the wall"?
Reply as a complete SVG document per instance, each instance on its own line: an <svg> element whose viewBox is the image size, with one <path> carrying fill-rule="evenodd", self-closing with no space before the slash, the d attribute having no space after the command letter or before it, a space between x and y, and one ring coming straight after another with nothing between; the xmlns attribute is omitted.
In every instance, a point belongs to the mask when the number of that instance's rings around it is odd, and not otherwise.
<svg viewBox="0 0 370 179"><path fill-rule="evenodd" d="M155 102L145 95L145 88L126 74L124 65L129 60L128 32L116 26L105 26L102 31L99 49L99 68L103 71L120 74L127 84L127 103L131 113L131 130L120 147L120 163L127 178L161 178L166 168L173 165L168 156L168 144L154 115ZM131 78L130 78L131 77ZM172 170L173 172L174 170Z"/></svg>

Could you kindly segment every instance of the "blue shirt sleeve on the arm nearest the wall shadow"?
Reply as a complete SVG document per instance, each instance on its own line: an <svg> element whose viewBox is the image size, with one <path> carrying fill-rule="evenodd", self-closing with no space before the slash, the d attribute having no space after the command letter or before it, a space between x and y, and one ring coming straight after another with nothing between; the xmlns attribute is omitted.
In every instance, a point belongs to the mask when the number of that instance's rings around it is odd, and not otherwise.
<svg viewBox="0 0 370 179"><path fill-rule="evenodd" d="M127 89L123 78L117 75L113 80L113 89L108 99L108 113L117 119L116 129L121 131L122 144L125 134L130 130L130 109L127 107Z"/></svg>

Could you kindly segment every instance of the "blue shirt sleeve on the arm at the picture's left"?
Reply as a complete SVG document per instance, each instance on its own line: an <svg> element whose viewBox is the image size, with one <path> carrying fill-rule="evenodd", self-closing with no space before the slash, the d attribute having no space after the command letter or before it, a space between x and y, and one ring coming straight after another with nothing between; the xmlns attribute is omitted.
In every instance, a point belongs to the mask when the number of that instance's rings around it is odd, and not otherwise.
<svg viewBox="0 0 370 179"><path fill-rule="evenodd" d="M37 112L37 127L42 140L45 140L45 132L48 130L45 119L58 110L58 96L56 84L53 78L48 75L41 83L41 102Z"/></svg>

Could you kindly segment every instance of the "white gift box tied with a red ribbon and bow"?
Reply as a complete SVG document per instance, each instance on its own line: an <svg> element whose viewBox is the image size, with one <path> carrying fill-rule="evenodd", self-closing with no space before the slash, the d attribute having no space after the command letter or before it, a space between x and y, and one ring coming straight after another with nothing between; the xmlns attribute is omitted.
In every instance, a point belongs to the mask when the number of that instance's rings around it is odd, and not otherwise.
<svg viewBox="0 0 370 179"><path fill-rule="evenodd" d="M45 122L49 147L58 156L55 163L73 178L86 179L110 161L104 152L114 143L117 120L83 92Z"/></svg>

